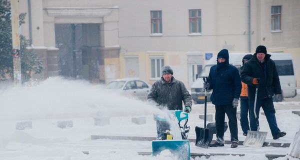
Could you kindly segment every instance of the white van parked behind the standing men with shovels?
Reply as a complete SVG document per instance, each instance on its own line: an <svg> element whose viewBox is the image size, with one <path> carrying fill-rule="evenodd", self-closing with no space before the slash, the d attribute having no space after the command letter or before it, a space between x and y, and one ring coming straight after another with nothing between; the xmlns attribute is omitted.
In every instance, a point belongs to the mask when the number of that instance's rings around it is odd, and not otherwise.
<svg viewBox="0 0 300 160"><path fill-rule="evenodd" d="M238 70L242 65L242 57L253 53L229 53L229 63ZM280 79L282 94L273 97L274 101L282 101L283 97L293 97L296 95L296 79L292 65L292 57L289 53L268 53L274 60ZM191 85L191 97L195 104L204 103L203 77L208 76L210 67L216 64L216 55L212 56L204 65L198 78ZM207 90L207 101L210 101L212 90Z"/></svg>

